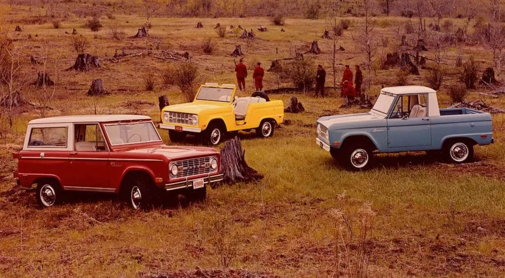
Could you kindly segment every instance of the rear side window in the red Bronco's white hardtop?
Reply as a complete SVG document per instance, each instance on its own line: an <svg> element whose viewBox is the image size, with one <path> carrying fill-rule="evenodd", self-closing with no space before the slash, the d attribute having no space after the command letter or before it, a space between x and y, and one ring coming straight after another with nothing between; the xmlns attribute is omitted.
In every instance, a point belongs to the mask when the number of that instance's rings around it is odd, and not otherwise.
<svg viewBox="0 0 505 278"><path fill-rule="evenodd" d="M67 127L32 128L28 147L67 147Z"/></svg>

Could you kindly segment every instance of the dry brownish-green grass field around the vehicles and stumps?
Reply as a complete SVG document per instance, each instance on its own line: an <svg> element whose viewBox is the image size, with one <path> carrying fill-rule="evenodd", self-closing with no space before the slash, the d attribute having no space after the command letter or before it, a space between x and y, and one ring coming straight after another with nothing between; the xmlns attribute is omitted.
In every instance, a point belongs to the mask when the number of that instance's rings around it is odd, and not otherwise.
<svg viewBox="0 0 505 278"><path fill-rule="evenodd" d="M72 11L81 4L65 5ZM306 111L286 113L286 122L268 139L239 133L247 163L265 176L258 182L222 185L208 191L205 203L188 205L181 199L149 212L134 212L107 195L79 194L69 196L64 204L39 209L34 190L15 187L12 178L17 161L11 153L22 144L30 119L135 113L159 122L158 96L168 95L171 104L184 100L177 86L163 84L163 74L173 62L156 57L187 51L199 67L198 82L235 83L230 54L236 44L241 44L249 68L261 61L267 70L274 59L308 51L316 39L323 53L306 57L325 67L331 86L333 41L321 38L331 20L287 18L284 26L275 26L266 17L154 17L149 36L134 39L129 36L145 23L145 17L137 14L140 9L129 14L111 12L111 16L104 12L98 32L83 27L89 16L72 12L56 29L54 19L44 17L45 8L2 5L0 9L2 28L14 39L13 53L22 65L23 80L34 81L45 67L56 82L54 97L50 96L53 87L22 88L29 101L49 108L16 108L12 127L5 126L5 115L1 118L0 276L496 277L505 273L505 116L493 115L495 144L476 147L475 163L445 164L424 153L407 153L379 155L372 170L348 172L315 145L315 122L322 115L367 109L339 108L344 101L332 90L324 99L315 99L314 91L270 95L285 106L296 96ZM94 9L110 12L105 3ZM31 20L40 11L42 24ZM361 32L363 18L349 19L349 28L337 38L337 46L345 49L336 54L337 81L343 65L365 61L352 38ZM374 20L374 35L381 42L379 61L399 44L408 19ZM448 20L455 29L465 24L465 19ZM198 21L204 28L194 28ZM239 32L220 38L213 29L218 22L252 28L258 39L239 39ZM14 31L17 25L21 32ZM259 25L268 31L257 31ZM112 37L113 27L124 32L121 40ZM77 35L65 33L73 28ZM88 41L85 52L100 58L101 67L65 71L75 62L78 53L72 41L79 35ZM201 50L206 38L217 43L213 54ZM428 38L432 50L436 36ZM408 35L410 44L416 39L417 35ZM138 55L113 59L116 51ZM481 44L444 47L442 61L448 74L438 95L442 108L452 104L447 92L459 82L458 53L464 61L473 55L481 69L492 66L491 52ZM434 59L433 51L425 54ZM45 65L31 64L30 56L45 60ZM428 66L433 66L431 61ZM420 71L420 76L409 75L407 84L427 85L428 70ZM381 85L396 85L398 68L373 72L370 96L376 96ZM154 77L153 91L145 89L147 76ZM86 96L95 78L103 80L110 95ZM250 77L246 85L240 96L253 92ZM271 72L266 73L264 85L265 89L292 87L289 80ZM479 86L472 91L490 90ZM505 108L503 95L469 94L467 99ZM172 144L166 131L160 133L165 143Z"/></svg>

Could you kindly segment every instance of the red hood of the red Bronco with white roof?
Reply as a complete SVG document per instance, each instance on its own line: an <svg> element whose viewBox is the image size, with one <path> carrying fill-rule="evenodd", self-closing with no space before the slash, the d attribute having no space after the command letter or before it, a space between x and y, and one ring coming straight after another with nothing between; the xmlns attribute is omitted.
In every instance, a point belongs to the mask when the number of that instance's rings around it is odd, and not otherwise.
<svg viewBox="0 0 505 278"><path fill-rule="evenodd" d="M156 146L152 148L140 148L127 150L126 153L160 154L168 159L179 159L195 156L217 155L214 148L188 147L188 146Z"/></svg>

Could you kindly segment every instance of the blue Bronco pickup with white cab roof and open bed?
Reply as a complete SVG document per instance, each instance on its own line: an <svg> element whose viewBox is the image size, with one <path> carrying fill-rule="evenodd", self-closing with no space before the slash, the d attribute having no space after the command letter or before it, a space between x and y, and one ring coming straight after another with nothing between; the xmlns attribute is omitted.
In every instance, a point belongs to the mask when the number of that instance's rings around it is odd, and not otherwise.
<svg viewBox="0 0 505 278"><path fill-rule="evenodd" d="M373 153L440 152L465 163L473 146L494 142L489 113L439 109L436 91L425 86L382 88L370 112L321 117L316 126L316 144L349 170L369 168Z"/></svg>

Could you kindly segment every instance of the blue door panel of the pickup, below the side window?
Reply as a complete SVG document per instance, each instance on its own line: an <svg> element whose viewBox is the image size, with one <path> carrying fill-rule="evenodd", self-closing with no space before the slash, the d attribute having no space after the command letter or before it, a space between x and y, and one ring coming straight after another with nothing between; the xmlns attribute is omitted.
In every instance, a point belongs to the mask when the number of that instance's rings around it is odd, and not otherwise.
<svg viewBox="0 0 505 278"><path fill-rule="evenodd" d="M430 118L398 118L387 120L388 149L407 148L406 151L408 151L422 146L431 146Z"/></svg>

